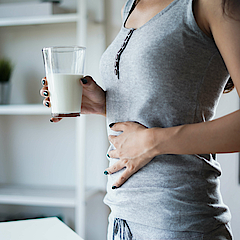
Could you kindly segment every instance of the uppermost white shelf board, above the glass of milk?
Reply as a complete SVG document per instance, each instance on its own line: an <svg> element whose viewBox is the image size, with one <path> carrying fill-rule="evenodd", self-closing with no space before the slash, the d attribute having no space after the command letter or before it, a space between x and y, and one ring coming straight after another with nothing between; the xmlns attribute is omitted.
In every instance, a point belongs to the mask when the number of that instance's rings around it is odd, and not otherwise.
<svg viewBox="0 0 240 240"><path fill-rule="evenodd" d="M0 18L0 27L77 22L78 19L79 15L76 13L37 17Z"/></svg>

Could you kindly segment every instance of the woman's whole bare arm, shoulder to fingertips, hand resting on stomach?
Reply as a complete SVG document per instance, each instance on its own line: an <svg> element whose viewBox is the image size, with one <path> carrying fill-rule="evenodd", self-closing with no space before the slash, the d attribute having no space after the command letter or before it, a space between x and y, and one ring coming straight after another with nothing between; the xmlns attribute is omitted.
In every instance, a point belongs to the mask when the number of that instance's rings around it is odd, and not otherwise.
<svg viewBox="0 0 240 240"><path fill-rule="evenodd" d="M223 15L221 0L199 0L216 45L240 93L240 19ZM237 10L239 18L239 10ZM171 128L135 128L136 123L117 123L112 129L123 131L109 139L116 150L110 157L120 161L106 169L110 174L126 167L114 184L121 186L132 174L160 154L206 154L240 151L240 110L222 118ZM134 151L133 151L134 150Z"/></svg>

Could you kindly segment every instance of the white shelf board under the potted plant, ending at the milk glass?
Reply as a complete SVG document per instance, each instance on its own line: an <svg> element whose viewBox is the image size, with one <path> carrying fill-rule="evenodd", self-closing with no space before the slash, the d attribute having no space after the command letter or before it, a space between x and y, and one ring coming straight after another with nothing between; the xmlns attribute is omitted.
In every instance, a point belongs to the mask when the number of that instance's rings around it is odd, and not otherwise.
<svg viewBox="0 0 240 240"><path fill-rule="evenodd" d="M51 109L42 104L0 105L0 115L51 115Z"/></svg>

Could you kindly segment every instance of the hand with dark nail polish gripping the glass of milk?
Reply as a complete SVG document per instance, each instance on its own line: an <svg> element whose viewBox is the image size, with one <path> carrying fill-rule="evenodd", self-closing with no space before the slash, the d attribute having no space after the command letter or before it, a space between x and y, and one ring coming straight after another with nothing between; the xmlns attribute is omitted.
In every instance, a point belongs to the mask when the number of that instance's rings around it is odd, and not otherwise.
<svg viewBox="0 0 240 240"><path fill-rule="evenodd" d="M42 79L40 95L44 97L43 105L51 107L50 93L46 77ZM100 114L106 116L106 92L96 84L90 76L80 79L83 87L81 114ZM51 122L59 122L62 118L51 118Z"/></svg>

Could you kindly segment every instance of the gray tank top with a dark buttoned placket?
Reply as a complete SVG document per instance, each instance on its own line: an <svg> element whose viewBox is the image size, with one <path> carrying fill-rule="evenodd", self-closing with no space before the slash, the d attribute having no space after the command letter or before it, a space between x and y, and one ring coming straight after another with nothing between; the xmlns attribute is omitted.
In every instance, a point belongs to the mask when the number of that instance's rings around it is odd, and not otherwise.
<svg viewBox="0 0 240 240"><path fill-rule="evenodd" d="M126 2L122 28L100 62L107 124L137 121L166 128L211 120L229 74L213 39L195 22L192 0L174 0L136 30L125 28L133 4ZM104 199L115 217L197 232L230 220L214 155L156 156L112 190L121 173L108 176Z"/></svg>

